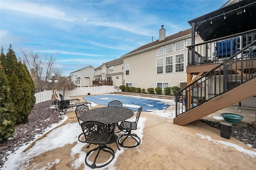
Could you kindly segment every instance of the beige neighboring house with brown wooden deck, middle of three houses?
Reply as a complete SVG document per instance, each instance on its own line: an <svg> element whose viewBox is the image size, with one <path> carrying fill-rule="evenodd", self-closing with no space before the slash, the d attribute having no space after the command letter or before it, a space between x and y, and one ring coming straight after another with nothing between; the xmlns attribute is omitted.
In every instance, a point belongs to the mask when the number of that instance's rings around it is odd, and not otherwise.
<svg viewBox="0 0 256 170"><path fill-rule="evenodd" d="M95 69L93 85L122 85L123 83L123 59L118 58L102 63Z"/></svg>

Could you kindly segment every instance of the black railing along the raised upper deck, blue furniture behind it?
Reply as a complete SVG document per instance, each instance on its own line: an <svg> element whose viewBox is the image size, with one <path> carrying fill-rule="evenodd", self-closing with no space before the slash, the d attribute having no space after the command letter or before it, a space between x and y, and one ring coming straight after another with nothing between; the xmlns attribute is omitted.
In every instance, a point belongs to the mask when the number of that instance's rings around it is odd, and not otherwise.
<svg viewBox="0 0 256 170"><path fill-rule="evenodd" d="M224 38L218 38L208 42L198 43L188 46L188 65L198 65L206 63L220 63L228 59L249 43L256 39L256 29L250 32L244 32ZM256 55L256 46L252 51ZM244 50L244 52L246 52ZM239 53L237 57L242 57Z"/></svg>

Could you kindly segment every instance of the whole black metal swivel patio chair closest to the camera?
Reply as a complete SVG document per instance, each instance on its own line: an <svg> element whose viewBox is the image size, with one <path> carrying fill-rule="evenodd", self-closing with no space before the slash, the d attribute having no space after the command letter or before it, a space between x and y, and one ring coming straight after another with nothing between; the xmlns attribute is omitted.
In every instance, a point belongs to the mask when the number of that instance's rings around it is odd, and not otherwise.
<svg viewBox="0 0 256 170"><path fill-rule="evenodd" d="M84 137L86 139L86 143L98 144L97 148L94 148L89 152L87 152L86 158L85 158L85 164L90 168L102 168L108 165L114 159L115 152L112 148L106 146L106 144L114 143L118 139L118 136L114 135L114 128L108 130L107 124L96 122L96 121L83 122L81 123L81 128L82 128ZM116 146L118 147L117 142L116 142ZM94 158L94 161L92 164L89 164L87 162L87 158L89 157L91 152L94 152L96 150L98 150L98 152ZM96 164L96 160L100 154L100 150L110 153L112 158L109 159L107 162L100 163L99 165L97 165L98 163ZM119 147L118 147L118 150L120 150Z"/></svg>

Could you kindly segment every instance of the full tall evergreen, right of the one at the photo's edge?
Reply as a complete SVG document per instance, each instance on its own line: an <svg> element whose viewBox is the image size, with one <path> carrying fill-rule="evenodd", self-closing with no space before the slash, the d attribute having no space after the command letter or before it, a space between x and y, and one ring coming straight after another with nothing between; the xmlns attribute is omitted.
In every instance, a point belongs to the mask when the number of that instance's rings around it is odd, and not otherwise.
<svg viewBox="0 0 256 170"><path fill-rule="evenodd" d="M34 83L25 65L17 61L16 55L9 46L6 53L6 75L10 82L10 98L14 103L16 125L28 122L30 111L34 107Z"/></svg>

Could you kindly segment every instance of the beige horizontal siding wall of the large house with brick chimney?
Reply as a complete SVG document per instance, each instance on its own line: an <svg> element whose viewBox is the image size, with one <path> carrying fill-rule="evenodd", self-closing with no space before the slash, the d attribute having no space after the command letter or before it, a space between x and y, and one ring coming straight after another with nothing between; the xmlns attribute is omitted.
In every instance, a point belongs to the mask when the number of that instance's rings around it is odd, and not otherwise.
<svg viewBox="0 0 256 170"><path fill-rule="evenodd" d="M191 38L191 37L190 37ZM188 39L188 38L186 38ZM179 42L178 40L176 42ZM184 50L156 56L156 53L160 47L132 55L130 57L124 57L124 83L132 83L133 87L140 87L148 89L150 87L157 87L157 83L169 83L169 86L177 86L181 82L187 81L186 65L187 65L187 48ZM184 42L186 46L186 41ZM184 54L184 71L175 73L175 55ZM173 56L173 73L156 73L156 59ZM130 65L130 75L125 75L125 66ZM165 58L164 58L164 72L165 72Z"/></svg>

